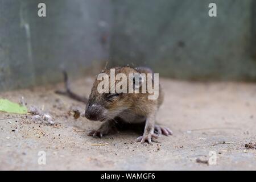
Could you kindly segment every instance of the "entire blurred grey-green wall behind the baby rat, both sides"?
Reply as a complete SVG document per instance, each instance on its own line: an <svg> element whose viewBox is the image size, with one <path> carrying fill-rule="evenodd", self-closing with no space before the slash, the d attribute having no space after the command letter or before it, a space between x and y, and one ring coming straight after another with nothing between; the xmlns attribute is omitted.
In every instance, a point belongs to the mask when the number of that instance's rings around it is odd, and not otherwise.
<svg viewBox="0 0 256 182"><path fill-rule="evenodd" d="M96 74L107 61L183 80L255 81L256 1L0 0L0 91L60 82L61 69Z"/></svg>

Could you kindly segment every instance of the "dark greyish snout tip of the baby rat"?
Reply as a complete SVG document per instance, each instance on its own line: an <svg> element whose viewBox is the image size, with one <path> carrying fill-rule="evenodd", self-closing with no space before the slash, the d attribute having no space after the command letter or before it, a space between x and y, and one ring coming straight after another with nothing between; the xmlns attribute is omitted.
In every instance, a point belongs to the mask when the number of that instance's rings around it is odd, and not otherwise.
<svg viewBox="0 0 256 182"><path fill-rule="evenodd" d="M86 110L85 110L85 117L87 119L93 120L93 121L99 121L101 120L102 117L102 106L100 105L88 105L86 106Z"/></svg>

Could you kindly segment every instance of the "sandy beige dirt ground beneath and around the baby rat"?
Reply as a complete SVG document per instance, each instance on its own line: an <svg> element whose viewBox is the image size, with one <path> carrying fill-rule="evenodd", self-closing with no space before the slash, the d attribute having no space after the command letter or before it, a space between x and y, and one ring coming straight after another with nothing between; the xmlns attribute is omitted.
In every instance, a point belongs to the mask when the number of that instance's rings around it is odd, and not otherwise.
<svg viewBox="0 0 256 182"><path fill-rule="evenodd" d="M37 106L54 124L35 122L31 115L0 113L0 169L46 170L220 170L256 169L256 85L233 82L185 82L162 79L165 92L157 120L174 135L160 143L134 142L140 134L122 131L102 139L88 137L100 122L75 119L85 105L54 93L63 84L0 93L0 98ZM88 96L92 78L71 85ZM13 118L16 117L16 118ZM13 118L13 119L7 119ZM46 164L38 163L39 151ZM199 163L216 152L217 164Z"/></svg>

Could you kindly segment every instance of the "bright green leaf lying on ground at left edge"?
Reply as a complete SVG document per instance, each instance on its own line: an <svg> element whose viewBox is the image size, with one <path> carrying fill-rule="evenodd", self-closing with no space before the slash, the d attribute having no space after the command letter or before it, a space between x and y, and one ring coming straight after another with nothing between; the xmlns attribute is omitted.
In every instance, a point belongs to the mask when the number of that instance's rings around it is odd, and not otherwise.
<svg viewBox="0 0 256 182"><path fill-rule="evenodd" d="M0 111L15 114L27 114L27 107L6 99L0 99Z"/></svg>

